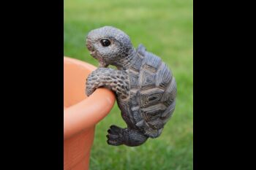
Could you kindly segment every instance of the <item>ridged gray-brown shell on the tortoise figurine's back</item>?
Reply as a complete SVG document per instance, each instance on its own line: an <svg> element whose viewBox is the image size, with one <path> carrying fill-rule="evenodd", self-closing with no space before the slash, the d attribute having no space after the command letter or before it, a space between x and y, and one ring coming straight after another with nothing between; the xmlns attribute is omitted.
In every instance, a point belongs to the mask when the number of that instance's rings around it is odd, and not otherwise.
<svg viewBox="0 0 256 170"><path fill-rule="evenodd" d="M176 81L161 58L139 45L129 72L129 99L119 101L122 116L132 128L156 138L176 106ZM135 127L134 127L135 126Z"/></svg>

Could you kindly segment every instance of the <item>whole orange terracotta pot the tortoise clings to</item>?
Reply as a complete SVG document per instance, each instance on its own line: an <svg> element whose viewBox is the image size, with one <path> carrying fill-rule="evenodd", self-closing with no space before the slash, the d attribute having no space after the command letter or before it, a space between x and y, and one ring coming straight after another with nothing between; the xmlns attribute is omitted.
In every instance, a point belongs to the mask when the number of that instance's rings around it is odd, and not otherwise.
<svg viewBox="0 0 256 170"><path fill-rule="evenodd" d="M95 125L115 103L105 88L85 94L86 77L97 69L89 63L64 57L64 170L89 169Z"/></svg>

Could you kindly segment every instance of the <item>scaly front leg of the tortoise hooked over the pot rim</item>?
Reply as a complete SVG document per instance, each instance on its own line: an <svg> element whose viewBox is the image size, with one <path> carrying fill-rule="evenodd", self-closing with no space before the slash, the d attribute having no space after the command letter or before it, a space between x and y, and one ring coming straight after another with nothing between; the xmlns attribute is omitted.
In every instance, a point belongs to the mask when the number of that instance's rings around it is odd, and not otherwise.
<svg viewBox="0 0 256 170"><path fill-rule="evenodd" d="M94 90L100 87L113 90L121 99L129 96L129 78L126 72L110 69L99 68L91 72L86 80L86 95L90 96Z"/></svg>

